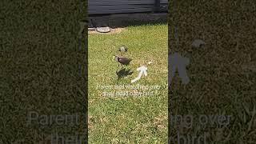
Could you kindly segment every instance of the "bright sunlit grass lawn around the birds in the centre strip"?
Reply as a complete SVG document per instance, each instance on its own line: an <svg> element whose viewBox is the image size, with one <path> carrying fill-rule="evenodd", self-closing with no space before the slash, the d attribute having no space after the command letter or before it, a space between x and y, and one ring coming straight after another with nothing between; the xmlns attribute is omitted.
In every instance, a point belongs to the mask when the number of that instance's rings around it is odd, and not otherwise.
<svg viewBox="0 0 256 144"><path fill-rule="evenodd" d="M89 143L167 142L167 25L129 26L120 34L89 35ZM112 61L118 47L128 47L132 74L118 78ZM148 76L131 84L146 62ZM160 86L150 96L104 96L97 86ZM113 91L113 90L106 90ZM117 90L114 90L117 91Z"/></svg>

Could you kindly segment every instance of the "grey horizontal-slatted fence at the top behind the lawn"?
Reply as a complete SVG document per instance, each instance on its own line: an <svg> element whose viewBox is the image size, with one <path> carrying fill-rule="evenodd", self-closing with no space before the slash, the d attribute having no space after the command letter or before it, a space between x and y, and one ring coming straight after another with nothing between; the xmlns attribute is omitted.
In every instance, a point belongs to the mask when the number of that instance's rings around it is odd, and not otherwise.
<svg viewBox="0 0 256 144"><path fill-rule="evenodd" d="M88 14L123 14L166 11L168 0L89 0Z"/></svg>

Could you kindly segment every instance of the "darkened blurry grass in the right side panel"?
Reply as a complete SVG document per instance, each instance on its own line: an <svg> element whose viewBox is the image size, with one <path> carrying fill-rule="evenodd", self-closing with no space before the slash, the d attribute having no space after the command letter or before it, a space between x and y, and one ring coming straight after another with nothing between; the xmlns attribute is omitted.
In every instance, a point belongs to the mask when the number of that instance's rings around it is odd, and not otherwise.
<svg viewBox="0 0 256 144"><path fill-rule="evenodd" d="M184 86L174 79L170 112L232 116L228 126L194 123L181 134L206 132L210 143L255 143L255 5L253 1L170 2L169 50L190 58L190 83ZM192 48L197 38L206 46ZM170 136L175 134L177 129L170 125Z"/></svg>

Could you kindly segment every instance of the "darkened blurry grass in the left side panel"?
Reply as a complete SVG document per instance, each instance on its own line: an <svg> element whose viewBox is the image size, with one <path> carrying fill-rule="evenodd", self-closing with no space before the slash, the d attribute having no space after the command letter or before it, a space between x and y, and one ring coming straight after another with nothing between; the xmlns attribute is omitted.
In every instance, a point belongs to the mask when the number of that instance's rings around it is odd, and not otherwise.
<svg viewBox="0 0 256 144"><path fill-rule="evenodd" d="M78 72L86 65L78 51L86 2L4 0L0 9L0 143L39 143L56 133L86 137L86 74ZM79 125L27 124L30 111L78 114Z"/></svg>

